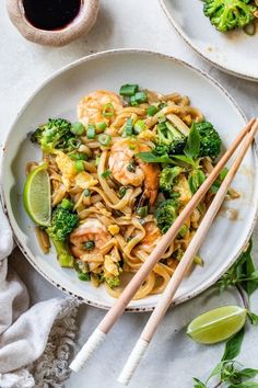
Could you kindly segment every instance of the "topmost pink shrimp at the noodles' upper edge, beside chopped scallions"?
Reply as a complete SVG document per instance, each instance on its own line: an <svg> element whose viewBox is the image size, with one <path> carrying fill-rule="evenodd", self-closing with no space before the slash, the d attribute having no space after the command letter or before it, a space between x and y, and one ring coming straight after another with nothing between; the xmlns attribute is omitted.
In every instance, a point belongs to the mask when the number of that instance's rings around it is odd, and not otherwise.
<svg viewBox="0 0 258 388"><path fill-rule="evenodd" d="M106 104L112 104L114 116L105 117L102 114L103 107ZM84 124L105 122L107 125L113 123L116 114L122 109L120 98L106 90L98 90L82 98L78 104L78 118Z"/></svg>

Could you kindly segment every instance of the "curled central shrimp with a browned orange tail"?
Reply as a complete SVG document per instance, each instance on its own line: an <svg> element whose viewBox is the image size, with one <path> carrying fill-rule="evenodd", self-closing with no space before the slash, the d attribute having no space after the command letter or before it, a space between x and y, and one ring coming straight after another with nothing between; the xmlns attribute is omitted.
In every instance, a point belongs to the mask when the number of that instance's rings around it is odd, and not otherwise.
<svg viewBox="0 0 258 388"><path fill-rule="evenodd" d="M153 205L159 191L160 169L154 163L145 163L134 158L136 153L149 150L145 144L134 139L117 140L112 147L108 166L113 176L122 185L144 184L143 197Z"/></svg>

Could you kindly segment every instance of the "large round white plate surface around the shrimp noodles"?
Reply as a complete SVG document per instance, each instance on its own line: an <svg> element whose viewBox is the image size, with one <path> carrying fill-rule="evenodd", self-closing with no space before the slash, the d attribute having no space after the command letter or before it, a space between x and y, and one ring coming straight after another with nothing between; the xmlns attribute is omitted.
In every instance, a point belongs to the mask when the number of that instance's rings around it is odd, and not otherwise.
<svg viewBox="0 0 258 388"><path fill-rule="evenodd" d="M220 132L228 147L241 130L245 118L236 103L214 80L177 59L142 50L114 50L83 58L67 66L48 79L26 103L11 128L2 162L2 194L16 241L27 260L49 282L77 295L85 303L109 308L114 299L103 287L94 288L80 282L75 271L61 269L55 253L44 255L38 248L34 225L22 204L25 164L40 160L40 150L27 139L27 133L48 117L75 119L80 98L96 89L118 91L126 82L163 93L177 91L189 95ZM257 210L258 176L255 150L249 150L234 187L242 197L226 203L239 215L231 221L221 213L209 232L200 254L204 267L196 267L177 293L176 303L189 299L213 284L234 262L247 242ZM153 309L159 296L132 301L130 310Z"/></svg>

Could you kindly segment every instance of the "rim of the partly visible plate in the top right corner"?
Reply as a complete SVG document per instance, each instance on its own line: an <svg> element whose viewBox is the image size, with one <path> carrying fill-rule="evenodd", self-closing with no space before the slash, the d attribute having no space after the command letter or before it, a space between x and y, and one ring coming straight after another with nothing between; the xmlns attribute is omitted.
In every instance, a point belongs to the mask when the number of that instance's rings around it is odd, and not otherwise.
<svg viewBox="0 0 258 388"><path fill-rule="evenodd" d="M258 82L258 76L250 76L250 75L245 75L242 72L238 72L236 70L232 70L221 64L218 64L215 60L212 60L208 56L206 56L192 42L191 39L187 36L187 34L183 31L183 28L179 26L179 24L175 21L175 19L172 16L171 12L168 11L166 7L166 0L159 0L161 8L168 20L168 22L173 25L173 27L176 30L178 35L196 52L201 58L203 58L206 61L208 61L210 65L215 66L218 69L231 75L235 76L237 78L242 78L244 80L253 81L253 82Z"/></svg>

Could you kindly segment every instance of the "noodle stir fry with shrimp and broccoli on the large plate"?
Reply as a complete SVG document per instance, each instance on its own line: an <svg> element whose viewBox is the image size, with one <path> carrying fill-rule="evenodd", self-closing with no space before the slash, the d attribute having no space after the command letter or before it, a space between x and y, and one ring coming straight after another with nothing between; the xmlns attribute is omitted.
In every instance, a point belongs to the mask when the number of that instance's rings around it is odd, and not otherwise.
<svg viewBox="0 0 258 388"><path fill-rule="evenodd" d="M78 122L52 118L32 134L51 183L51 221L37 227L61 266L104 283L113 297L136 273L212 171L221 139L187 96L125 84L85 95ZM38 163L31 162L27 172ZM134 299L164 290L226 171L196 208ZM231 197L237 193L230 191ZM202 260L197 256L197 264Z"/></svg>

